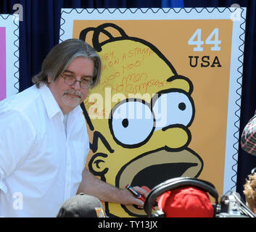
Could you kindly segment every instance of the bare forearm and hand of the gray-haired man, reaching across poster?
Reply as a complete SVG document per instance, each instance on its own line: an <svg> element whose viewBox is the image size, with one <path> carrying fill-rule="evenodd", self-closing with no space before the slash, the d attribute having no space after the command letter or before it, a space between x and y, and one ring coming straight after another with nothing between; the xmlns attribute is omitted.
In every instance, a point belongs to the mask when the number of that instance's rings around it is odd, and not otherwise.
<svg viewBox="0 0 256 232"><path fill-rule="evenodd" d="M146 198L148 193L143 188L134 187L134 189ZM115 186L99 180L96 176L86 170L86 168L83 170L83 178L77 193L79 194L80 192L96 196L103 202L136 204L139 207L144 206L144 202L133 196L127 189L116 188Z"/></svg>

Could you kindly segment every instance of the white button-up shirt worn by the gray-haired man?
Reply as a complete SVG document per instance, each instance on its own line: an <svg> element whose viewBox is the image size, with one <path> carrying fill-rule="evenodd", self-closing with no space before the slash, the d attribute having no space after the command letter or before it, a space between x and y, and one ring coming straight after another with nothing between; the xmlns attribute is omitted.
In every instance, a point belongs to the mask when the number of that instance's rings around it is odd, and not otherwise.
<svg viewBox="0 0 256 232"><path fill-rule="evenodd" d="M1 217L56 217L76 194L89 151L80 106L63 121L46 85L0 102Z"/></svg>

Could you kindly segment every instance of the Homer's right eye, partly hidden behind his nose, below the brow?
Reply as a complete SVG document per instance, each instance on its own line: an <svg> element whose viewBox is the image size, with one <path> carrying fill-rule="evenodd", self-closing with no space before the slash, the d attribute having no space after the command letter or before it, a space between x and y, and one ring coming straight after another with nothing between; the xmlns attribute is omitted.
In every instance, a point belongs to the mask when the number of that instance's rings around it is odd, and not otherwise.
<svg viewBox="0 0 256 232"><path fill-rule="evenodd" d="M156 130L168 125L189 126L194 119L194 102L190 96L181 92L162 94L153 106Z"/></svg>

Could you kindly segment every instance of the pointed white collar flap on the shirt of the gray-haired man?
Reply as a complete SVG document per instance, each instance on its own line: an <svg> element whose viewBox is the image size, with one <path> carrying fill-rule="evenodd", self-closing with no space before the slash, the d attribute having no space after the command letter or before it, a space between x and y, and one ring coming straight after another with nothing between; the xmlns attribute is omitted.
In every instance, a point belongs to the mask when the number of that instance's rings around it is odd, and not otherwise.
<svg viewBox="0 0 256 232"><path fill-rule="evenodd" d="M57 113L59 112L63 116L62 109L60 109L59 104L57 103L56 99L51 93L49 87L46 86L46 84L44 84L44 86L41 86L39 88L39 91L44 100L44 104L49 118L51 119L52 117L54 117L54 115L57 115Z"/></svg>

